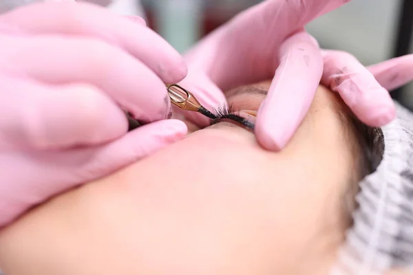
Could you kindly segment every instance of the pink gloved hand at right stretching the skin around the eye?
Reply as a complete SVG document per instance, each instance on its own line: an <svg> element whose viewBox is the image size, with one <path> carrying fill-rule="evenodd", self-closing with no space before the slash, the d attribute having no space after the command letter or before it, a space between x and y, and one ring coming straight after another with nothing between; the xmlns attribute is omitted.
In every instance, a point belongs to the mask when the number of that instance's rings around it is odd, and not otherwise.
<svg viewBox="0 0 413 275"><path fill-rule="evenodd" d="M348 54L321 55L317 41L304 31L307 23L349 1L266 0L253 6L184 56L189 75L182 85L213 109L225 104L222 91L273 78L255 124L258 142L271 150L290 140L321 76L321 83L339 91L363 122L390 122L395 112L392 100L366 68ZM199 115L187 115L200 126L207 124Z"/></svg>

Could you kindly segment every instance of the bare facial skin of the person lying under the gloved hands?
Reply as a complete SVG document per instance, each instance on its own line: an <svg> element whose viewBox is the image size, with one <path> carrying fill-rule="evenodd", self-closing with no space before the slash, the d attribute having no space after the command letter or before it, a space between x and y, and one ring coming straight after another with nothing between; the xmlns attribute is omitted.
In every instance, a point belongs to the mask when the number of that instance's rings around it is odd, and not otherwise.
<svg viewBox="0 0 413 275"><path fill-rule="evenodd" d="M268 83L228 93L253 122ZM354 138L319 87L273 153L221 120L118 173L35 208L0 232L8 275L328 274L350 225Z"/></svg>

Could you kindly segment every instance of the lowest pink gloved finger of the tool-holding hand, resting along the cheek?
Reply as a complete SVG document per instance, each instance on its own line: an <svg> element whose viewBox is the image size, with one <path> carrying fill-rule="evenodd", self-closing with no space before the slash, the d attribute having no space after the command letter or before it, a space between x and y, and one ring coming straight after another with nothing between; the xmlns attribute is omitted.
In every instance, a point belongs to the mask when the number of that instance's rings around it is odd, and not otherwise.
<svg viewBox="0 0 413 275"><path fill-rule="evenodd" d="M0 227L53 195L109 175L182 139L186 133L184 122L162 120L103 146L1 154L0 163L6 167L0 175Z"/></svg>

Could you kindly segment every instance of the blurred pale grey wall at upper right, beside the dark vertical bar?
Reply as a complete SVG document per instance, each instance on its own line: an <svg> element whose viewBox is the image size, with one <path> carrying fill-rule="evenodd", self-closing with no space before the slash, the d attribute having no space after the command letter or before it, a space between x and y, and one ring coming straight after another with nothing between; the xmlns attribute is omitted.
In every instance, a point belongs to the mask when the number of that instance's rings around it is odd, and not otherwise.
<svg viewBox="0 0 413 275"><path fill-rule="evenodd" d="M307 30L321 47L350 52L370 65L391 57L399 5L399 0L352 0Z"/></svg>

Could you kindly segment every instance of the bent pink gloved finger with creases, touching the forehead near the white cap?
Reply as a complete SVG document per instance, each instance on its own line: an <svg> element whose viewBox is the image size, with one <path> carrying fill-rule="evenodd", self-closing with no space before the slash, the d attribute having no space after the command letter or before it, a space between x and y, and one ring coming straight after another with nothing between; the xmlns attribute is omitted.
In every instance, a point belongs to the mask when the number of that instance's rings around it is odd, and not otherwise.
<svg viewBox="0 0 413 275"><path fill-rule="evenodd" d="M371 126L383 126L396 117L390 94L357 58L333 50L323 50L322 54L321 83L338 91L359 120Z"/></svg>

